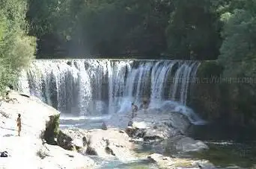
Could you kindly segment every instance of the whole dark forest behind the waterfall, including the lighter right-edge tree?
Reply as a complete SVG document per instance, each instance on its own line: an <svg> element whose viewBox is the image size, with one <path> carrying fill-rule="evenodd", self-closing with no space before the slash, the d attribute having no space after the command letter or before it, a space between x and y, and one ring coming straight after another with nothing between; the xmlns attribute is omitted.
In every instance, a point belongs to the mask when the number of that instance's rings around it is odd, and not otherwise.
<svg viewBox="0 0 256 169"><path fill-rule="evenodd" d="M27 7L38 58L218 59L228 76L254 73L254 0L28 0Z"/></svg>

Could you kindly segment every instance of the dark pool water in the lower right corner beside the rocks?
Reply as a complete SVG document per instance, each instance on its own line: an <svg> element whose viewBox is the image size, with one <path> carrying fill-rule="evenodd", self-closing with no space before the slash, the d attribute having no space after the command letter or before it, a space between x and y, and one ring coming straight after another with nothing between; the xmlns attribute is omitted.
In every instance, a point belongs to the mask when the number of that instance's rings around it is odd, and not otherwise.
<svg viewBox="0 0 256 169"><path fill-rule="evenodd" d="M210 123L192 126L188 135L205 141L207 151L190 153L194 158L210 160L214 165L252 168L256 163L256 136L250 127L234 127L228 124Z"/></svg>

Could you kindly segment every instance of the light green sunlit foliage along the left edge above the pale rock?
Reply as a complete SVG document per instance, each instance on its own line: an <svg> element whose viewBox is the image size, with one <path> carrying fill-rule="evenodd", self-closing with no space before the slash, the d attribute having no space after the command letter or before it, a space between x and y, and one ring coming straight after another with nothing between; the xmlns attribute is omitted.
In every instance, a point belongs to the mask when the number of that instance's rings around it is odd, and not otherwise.
<svg viewBox="0 0 256 169"><path fill-rule="evenodd" d="M35 39L26 36L26 1L0 0L0 92L14 84L34 58Z"/></svg>

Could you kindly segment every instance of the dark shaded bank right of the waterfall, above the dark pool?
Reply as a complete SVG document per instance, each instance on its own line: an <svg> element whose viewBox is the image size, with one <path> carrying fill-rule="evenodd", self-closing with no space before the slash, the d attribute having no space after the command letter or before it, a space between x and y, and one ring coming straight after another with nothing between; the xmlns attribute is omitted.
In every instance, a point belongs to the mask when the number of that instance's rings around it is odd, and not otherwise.
<svg viewBox="0 0 256 169"><path fill-rule="evenodd" d="M201 63L188 106L210 122L255 128L255 78L224 77L223 71L224 67L216 61Z"/></svg>

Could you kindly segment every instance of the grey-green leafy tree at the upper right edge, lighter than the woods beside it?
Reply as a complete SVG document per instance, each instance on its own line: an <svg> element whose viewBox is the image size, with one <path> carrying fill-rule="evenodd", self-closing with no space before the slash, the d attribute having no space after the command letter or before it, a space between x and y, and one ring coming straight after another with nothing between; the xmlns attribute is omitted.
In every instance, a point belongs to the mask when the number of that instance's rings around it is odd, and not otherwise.
<svg viewBox="0 0 256 169"><path fill-rule="evenodd" d="M220 48L219 62L225 66L226 76L255 74L256 3L246 2L245 9L237 9L222 15L225 26L222 31L224 40Z"/></svg>

